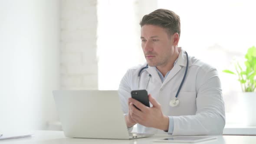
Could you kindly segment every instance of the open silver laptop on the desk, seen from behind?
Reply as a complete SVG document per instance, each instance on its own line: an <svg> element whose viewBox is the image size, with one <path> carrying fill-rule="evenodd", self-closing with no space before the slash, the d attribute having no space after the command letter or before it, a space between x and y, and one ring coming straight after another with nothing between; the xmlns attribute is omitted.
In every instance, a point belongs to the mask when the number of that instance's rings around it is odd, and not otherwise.
<svg viewBox="0 0 256 144"><path fill-rule="evenodd" d="M66 137L134 139L152 134L129 133L118 91L53 91Z"/></svg>

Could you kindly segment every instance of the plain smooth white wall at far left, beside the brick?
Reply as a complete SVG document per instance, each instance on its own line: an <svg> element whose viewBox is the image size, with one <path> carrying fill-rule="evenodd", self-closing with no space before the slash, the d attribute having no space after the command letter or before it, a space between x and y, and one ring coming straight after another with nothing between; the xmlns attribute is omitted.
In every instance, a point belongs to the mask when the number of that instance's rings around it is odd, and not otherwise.
<svg viewBox="0 0 256 144"><path fill-rule="evenodd" d="M0 132L47 129L59 89L59 0L0 0Z"/></svg>

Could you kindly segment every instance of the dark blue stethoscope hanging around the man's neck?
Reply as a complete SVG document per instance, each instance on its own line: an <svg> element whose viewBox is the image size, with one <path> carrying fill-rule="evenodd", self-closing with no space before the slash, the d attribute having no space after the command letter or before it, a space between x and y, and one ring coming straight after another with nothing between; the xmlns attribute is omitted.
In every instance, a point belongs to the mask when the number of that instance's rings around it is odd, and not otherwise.
<svg viewBox="0 0 256 144"><path fill-rule="evenodd" d="M169 103L169 105L170 105L171 107L175 107L175 106L179 105L179 102L180 102L177 97L178 97L178 95L179 95L179 93L180 93L180 91L181 91L181 87L182 87L182 85L183 85L183 83L184 83L184 80L185 80L185 78L186 78L187 69L188 69L188 55L187 55L187 52L186 52L186 51L185 51L185 53L186 53L186 56L187 56L186 71L185 71L184 76L183 76L183 79L182 79L182 81L181 81L181 85L180 85L180 87L179 87L179 89L178 89L178 91L177 91L177 93L176 93L176 95L175 95L175 98L171 99L171 101L170 101L170 103ZM138 89L139 89L139 86L140 86L140 76L141 76L141 73L143 72L144 69L148 69L148 64L147 64L145 67L141 68L140 71L139 71L139 73L138 73ZM151 79L151 74L149 74L148 77L149 77L149 79L148 79L148 82L147 82L147 85L146 85L146 88L145 88L145 89L148 88L148 83L149 83L149 81L150 81L150 79Z"/></svg>

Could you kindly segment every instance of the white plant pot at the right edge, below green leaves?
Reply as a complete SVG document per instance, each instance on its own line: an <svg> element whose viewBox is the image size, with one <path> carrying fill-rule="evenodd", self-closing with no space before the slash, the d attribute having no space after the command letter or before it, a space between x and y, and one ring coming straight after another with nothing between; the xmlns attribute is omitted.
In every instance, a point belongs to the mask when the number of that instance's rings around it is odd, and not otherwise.
<svg viewBox="0 0 256 144"><path fill-rule="evenodd" d="M243 102L246 125L256 126L256 93L243 92L242 94L241 102Z"/></svg>

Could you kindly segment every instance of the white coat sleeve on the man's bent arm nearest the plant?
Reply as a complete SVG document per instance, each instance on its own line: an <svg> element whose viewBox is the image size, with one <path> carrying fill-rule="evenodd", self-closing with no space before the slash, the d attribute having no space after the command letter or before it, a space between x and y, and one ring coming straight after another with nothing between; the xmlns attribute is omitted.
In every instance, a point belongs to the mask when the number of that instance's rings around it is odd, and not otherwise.
<svg viewBox="0 0 256 144"><path fill-rule="evenodd" d="M221 135L225 108L216 69L197 74L196 115L173 116L173 135Z"/></svg>

